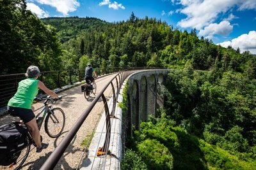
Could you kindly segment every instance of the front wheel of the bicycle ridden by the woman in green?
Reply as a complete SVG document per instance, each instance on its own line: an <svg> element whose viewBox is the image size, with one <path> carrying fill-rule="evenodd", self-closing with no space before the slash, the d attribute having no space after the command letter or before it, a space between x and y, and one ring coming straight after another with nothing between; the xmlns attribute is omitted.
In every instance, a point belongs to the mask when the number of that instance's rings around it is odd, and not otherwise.
<svg viewBox="0 0 256 170"><path fill-rule="evenodd" d="M61 108L54 108L45 118L45 132L51 138L60 136L65 126L65 113Z"/></svg>

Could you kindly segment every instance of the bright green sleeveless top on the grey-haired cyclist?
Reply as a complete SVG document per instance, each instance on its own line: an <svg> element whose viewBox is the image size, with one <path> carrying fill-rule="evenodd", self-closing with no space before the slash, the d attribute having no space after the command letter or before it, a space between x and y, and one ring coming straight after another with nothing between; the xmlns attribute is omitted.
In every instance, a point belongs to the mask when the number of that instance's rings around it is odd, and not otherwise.
<svg viewBox="0 0 256 170"><path fill-rule="evenodd" d="M8 106L31 109L33 99L38 93L37 82L35 78L20 81L18 90L8 102Z"/></svg>

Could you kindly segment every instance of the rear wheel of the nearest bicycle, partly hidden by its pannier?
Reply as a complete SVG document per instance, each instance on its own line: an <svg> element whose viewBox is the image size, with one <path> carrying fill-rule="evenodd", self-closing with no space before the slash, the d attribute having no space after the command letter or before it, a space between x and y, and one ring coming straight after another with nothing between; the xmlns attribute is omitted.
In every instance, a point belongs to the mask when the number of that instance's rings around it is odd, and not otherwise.
<svg viewBox="0 0 256 170"><path fill-rule="evenodd" d="M9 166L9 167L12 167L14 170L20 169L20 167L24 164L24 162L28 158L31 143L30 143L30 139L28 136L26 136L25 140L26 140L26 145L24 146L24 148L22 148L21 151L19 151L20 152L20 153L18 153L19 157L17 158L17 160L15 160L15 162L10 164L10 166Z"/></svg>

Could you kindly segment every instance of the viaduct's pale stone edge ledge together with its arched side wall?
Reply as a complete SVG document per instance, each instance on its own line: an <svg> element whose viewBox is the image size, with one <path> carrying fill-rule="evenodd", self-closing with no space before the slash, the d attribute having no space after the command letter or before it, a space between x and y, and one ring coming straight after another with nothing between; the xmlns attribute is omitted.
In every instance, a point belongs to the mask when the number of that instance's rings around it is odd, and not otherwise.
<svg viewBox="0 0 256 170"><path fill-rule="evenodd" d="M164 85L169 71L166 69L142 70L127 76L119 92L115 117L111 118L110 154L104 155L104 157L95 156L99 145L103 145L102 136L106 135L106 131L102 131L102 129L106 129L106 117L105 114L102 114L88 151L88 157L84 159L81 169L120 169L122 154L124 154L122 134L132 135L133 128L140 129L140 121L147 121L149 115L155 117L157 108L163 107L163 94L160 94L159 89ZM124 115L118 103L123 101L125 85L127 86L127 113ZM109 105L111 103L109 102ZM124 119L127 127L125 132L122 127Z"/></svg>

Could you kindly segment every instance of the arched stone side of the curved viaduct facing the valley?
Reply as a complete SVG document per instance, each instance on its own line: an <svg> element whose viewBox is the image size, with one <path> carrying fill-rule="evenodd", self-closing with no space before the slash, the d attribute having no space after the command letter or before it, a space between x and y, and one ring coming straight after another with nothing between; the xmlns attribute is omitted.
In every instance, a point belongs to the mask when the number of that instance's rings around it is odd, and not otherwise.
<svg viewBox="0 0 256 170"><path fill-rule="evenodd" d="M140 120L147 121L148 115L156 116L157 107L163 107L163 97L159 95L168 70L138 71L128 77L129 126L140 129Z"/></svg>

